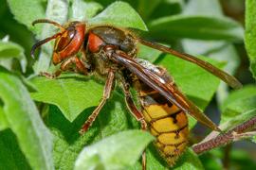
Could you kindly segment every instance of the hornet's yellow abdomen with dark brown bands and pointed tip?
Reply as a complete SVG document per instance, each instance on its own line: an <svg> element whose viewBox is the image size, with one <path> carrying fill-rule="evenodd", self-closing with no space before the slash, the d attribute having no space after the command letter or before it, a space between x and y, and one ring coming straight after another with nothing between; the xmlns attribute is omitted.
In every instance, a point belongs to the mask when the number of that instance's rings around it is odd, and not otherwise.
<svg viewBox="0 0 256 170"><path fill-rule="evenodd" d="M148 129L156 138L155 146L173 166L188 144L187 115L146 84L140 84L139 100Z"/></svg>

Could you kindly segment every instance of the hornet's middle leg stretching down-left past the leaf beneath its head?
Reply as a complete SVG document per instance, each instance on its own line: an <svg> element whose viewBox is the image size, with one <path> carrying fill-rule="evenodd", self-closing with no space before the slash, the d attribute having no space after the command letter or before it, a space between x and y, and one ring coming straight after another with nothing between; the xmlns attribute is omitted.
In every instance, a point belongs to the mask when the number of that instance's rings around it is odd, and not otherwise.
<svg viewBox="0 0 256 170"><path fill-rule="evenodd" d="M106 103L106 100L110 97L110 93L112 92L113 85L114 85L114 80L115 80L115 73L113 72L113 70L110 70L108 73L108 76L107 76L106 83L105 83L103 97L101 99L101 102L100 102L99 106L88 117L88 119L85 121L85 123L82 125L82 128L80 130L81 134L83 132L85 132L89 127L91 127L91 125L93 124L93 122L95 121L97 116L99 115L102 107Z"/></svg>

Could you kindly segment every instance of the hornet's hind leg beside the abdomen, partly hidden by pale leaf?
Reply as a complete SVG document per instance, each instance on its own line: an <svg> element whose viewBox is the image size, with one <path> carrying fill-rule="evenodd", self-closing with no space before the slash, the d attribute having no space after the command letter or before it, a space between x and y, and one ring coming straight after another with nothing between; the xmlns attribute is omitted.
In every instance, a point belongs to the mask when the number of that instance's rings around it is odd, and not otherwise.
<svg viewBox="0 0 256 170"><path fill-rule="evenodd" d="M146 130L147 129L147 123L144 119L144 116L141 114L139 110L137 110L137 107L133 101L132 94L130 93L130 85L125 82L124 79L121 80L123 92L125 95L125 103L127 105L127 108L130 110L132 115L137 119L137 121L140 122L141 129ZM142 153L142 169L146 170L146 152L143 151Z"/></svg>

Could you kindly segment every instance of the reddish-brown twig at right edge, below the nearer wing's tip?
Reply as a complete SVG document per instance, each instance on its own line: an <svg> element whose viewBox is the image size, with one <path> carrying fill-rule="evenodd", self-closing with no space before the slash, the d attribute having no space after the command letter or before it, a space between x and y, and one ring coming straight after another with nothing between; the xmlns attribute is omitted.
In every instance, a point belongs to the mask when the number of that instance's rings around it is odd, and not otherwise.
<svg viewBox="0 0 256 170"><path fill-rule="evenodd" d="M215 148L221 145L226 145L234 141L239 141L241 139L245 139L245 137L246 138L251 137L252 135L256 134L256 131L250 131L250 132L246 132L246 131L249 129L255 128L255 126L256 126L256 117L251 118L247 122L230 129L226 133L222 133L218 136L213 136L213 138L208 139L207 141L204 140L202 143L194 144L192 146L192 149L196 154L201 154L212 148Z"/></svg>

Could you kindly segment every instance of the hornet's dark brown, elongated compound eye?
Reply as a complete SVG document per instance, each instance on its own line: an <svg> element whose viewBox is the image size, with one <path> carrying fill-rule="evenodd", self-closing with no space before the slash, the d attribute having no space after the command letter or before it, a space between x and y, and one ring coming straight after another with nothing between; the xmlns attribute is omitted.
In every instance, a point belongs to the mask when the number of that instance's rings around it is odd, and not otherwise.
<svg viewBox="0 0 256 170"><path fill-rule="evenodd" d="M62 37L56 40L55 43L55 51L60 52L63 51L64 48L72 41L72 39L76 35L76 30L74 27L70 28L68 27Z"/></svg>

